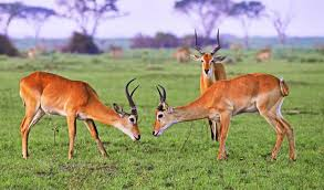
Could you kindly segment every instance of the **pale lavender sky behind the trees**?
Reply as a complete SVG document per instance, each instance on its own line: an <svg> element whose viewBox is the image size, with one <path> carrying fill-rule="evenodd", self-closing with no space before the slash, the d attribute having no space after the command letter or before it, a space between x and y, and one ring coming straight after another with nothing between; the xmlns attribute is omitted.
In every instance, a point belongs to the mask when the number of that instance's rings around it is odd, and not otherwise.
<svg viewBox="0 0 324 190"><path fill-rule="evenodd" d="M15 0L0 0L13 2ZM25 4L54 8L54 0L19 0ZM119 0L117 6L127 17L108 20L101 24L96 36L100 38L132 38L138 33L154 35L157 31L173 32L178 36L192 34L197 27L185 14L174 10L176 0ZM240 0L234 0L240 1ZM283 15L293 17L288 28L290 36L324 36L324 22L321 20L324 0L260 0L269 10L276 10ZM224 19L218 28L220 33L243 35L240 22ZM66 38L77 29L76 25L62 19L50 19L42 28L41 38ZM216 32L217 30L215 30ZM275 30L266 19L253 21L250 35L274 36ZM33 36L34 32L24 21L13 21L9 28L10 36ZM215 34L215 33L213 33Z"/></svg>

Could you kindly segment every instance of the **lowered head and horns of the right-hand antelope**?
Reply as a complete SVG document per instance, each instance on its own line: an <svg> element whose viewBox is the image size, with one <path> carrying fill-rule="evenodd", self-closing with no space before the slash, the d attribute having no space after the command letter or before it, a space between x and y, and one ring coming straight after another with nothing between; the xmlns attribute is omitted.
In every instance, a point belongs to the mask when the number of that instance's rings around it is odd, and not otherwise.
<svg viewBox="0 0 324 190"><path fill-rule="evenodd" d="M155 124L153 135L157 137L161 135L171 125L177 124L178 122L176 119L174 108L169 107L166 103L166 89L161 85L156 86L156 88L158 91L160 101L155 112ZM161 91L159 88L161 88Z"/></svg>

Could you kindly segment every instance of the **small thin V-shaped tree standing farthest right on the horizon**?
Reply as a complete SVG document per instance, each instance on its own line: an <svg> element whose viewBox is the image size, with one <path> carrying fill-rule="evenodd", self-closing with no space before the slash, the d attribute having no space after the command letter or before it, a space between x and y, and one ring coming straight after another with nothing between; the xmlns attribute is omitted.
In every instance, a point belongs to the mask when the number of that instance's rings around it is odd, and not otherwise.
<svg viewBox="0 0 324 190"><path fill-rule="evenodd" d="M281 44L285 44L286 41L286 29L292 21L292 14L281 14L279 11L270 11L269 18L276 31L279 41Z"/></svg>

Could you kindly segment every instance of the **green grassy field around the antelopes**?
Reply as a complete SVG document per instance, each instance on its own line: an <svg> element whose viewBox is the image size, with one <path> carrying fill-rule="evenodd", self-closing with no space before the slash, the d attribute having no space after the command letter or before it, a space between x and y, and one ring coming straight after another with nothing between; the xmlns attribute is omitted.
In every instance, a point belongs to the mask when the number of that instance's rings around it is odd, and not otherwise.
<svg viewBox="0 0 324 190"><path fill-rule="evenodd" d="M266 159L274 130L258 114L231 122L229 159L217 161L218 144L210 140L206 120L177 124L163 136L151 135L158 104L155 85L168 91L171 106L199 95L198 63L177 64L167 51L108 55L48 55L30 61L0 56L0 189L323 189L324 188L324 57L312 51L278 51L268 63L255 63L253 52L236 65L230 77L264 72L283 76L291 88L283 115L296 136L297 160L288 159L288 142L276 161ZM137 77L142 139L133 142L119 130L97 123L108 158L97 151L77 123L74 159L67 160L65 118L44 117L31 129L30 158L21 157L20 122L24 109L19 80L41 70L88 82L107 105L127 107L125 83ZM54 140L54 131L55 140ZM188 139L188 140L187 140Z"/></svg>

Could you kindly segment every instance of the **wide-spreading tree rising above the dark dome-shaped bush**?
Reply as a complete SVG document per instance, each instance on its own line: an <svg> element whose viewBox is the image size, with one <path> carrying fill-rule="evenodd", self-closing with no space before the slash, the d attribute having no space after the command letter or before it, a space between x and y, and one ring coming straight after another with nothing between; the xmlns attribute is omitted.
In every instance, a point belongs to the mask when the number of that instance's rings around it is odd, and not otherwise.
<svg viewBox="0 0 324 190"><path fill-rule="evenodd" d="M125 15L117 0L56 0L61 15L73 20L84 35L94 36L102 21Z"/></svg>

